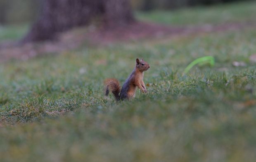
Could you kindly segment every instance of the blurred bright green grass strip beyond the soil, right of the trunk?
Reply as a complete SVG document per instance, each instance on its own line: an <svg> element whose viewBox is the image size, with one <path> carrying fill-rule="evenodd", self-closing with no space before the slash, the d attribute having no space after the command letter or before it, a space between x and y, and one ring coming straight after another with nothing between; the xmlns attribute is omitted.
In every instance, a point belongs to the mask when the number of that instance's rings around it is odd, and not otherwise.
<svg viewBox="0 0 256 162"><path fill-rule="evenodd" d="M170 11L137 12L140 20L163 23L167 25L204 25L218 23L236 23L254 21L256 1L217 5L212 7L195 7Z"/></svg>

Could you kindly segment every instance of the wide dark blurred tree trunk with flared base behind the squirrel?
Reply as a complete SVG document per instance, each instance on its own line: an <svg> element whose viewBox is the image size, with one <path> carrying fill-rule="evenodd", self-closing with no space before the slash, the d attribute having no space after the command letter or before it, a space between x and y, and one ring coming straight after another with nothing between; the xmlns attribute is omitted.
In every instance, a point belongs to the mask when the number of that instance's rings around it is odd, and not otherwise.
<svg viewBox="0 0 256 162"><path fill-rule="evenodd" d="M23 42L50 40L93 19L111 27L134 21L129 0L41 0L40 6L39 17Z"/></svg>

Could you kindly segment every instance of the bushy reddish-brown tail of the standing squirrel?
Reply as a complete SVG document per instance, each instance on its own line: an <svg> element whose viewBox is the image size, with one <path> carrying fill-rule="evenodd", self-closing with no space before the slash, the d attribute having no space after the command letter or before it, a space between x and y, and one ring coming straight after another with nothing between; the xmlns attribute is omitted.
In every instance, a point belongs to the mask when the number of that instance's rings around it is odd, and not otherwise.
<svg viewBox="0 0 256 162"><path fill-rule="evenodd" d="M120 86L119 86L119 81L117 79L106 79L104 82L106 86L106 93L105 95L109 95L109 90L114 94L115 98L117 101L119 101L120 96Z"/></svg>

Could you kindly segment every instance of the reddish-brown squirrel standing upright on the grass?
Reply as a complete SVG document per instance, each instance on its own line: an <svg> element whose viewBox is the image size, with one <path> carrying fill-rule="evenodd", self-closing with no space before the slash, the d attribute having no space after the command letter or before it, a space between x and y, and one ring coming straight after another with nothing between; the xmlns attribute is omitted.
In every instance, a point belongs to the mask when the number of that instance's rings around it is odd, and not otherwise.
<svg viewBox="0 0 256 162"><path fill-rule="evenodd" d="M139 87L142 93L146 93L147 89L143 82L143 72L147 71L149 68L150 66L146 61L144 61L143 59L136 59L136 66L133 69L133 72L130 74L130 76L126 79L125 83L123 84L121 92L119 81L117 79L106 79L104 82L106 86L105 95L108 96L109 91L111 91L114 94L116 101L119 101L135 97L137 87Z"/></svg>

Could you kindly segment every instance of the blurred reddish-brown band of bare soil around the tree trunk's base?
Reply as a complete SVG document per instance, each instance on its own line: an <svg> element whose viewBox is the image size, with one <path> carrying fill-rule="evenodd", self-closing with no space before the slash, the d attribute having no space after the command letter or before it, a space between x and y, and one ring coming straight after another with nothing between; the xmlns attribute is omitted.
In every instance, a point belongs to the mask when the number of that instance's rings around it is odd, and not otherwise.
<svg viewBox="0 0 256 162"><path fill-rule="evenodd" d="M116 28L96 28L95 26L89 26L62 33L55 41L27 43L24 45L17 42L2 43L0 44L0 62L9 61L10 59L27 60L34 56L49 53L57 54L84 44L108 45L120 41L170 38L177 35L239 30L255 26L256 23L228 23L218 26L206 24L200 27L177 27L145 22L136 22L128 26Z"/></svg>

